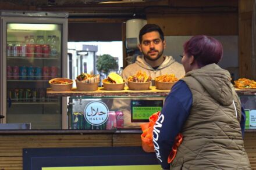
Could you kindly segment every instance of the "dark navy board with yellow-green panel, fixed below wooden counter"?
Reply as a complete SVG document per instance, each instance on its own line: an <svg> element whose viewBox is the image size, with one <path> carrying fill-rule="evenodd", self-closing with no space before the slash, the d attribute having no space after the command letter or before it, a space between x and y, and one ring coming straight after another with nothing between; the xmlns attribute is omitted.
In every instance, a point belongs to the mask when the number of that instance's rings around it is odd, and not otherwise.
<svg viewBox="0 0 256 170"><path fill-rule="evenodd" d="M54 170L58 167L62 167L63 170L161 168L155 153L145 153L141 147L23 149L23 169Z"/></svg>

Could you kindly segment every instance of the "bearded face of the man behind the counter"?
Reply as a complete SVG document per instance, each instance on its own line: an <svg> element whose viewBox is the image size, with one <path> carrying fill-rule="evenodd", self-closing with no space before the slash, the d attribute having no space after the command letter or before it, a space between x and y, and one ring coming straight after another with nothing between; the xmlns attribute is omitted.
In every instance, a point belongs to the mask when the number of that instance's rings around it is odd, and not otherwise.
<svg viewBox="0 0 256 170"><path fill-rule="evenodd" d="M142 36L142 42L138 45L140 52L150 61L158 60L165 49L165 41L162 41L157 31L152 31Z"/></svg>

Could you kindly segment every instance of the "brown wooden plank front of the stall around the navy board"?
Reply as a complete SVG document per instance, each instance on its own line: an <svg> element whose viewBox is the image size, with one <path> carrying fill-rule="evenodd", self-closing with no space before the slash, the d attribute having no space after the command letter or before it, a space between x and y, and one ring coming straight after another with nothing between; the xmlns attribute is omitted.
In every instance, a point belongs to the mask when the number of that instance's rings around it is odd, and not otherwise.
<svg viewBox="0 0 256 170"><path fill-rule="evenodd" d="M141 147L140 129L123 131L0 131L0 169L23 169L24 149ZM246 130L244 146L256 169L256 133Z"/></svg>

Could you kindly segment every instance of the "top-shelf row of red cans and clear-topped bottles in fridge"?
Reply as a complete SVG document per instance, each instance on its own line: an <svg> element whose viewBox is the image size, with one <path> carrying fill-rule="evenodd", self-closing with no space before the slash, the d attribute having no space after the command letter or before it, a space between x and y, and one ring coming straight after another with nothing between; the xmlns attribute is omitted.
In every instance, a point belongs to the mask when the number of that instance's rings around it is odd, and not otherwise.
<svg viewBox="0 0 256 170"><path fill-rule="evenodd" d="M24 42L8 42L7 56L17 57L56 57L59 50L59 40L56 35L48 35L47 41L43 35L25 36Z"/></svg>

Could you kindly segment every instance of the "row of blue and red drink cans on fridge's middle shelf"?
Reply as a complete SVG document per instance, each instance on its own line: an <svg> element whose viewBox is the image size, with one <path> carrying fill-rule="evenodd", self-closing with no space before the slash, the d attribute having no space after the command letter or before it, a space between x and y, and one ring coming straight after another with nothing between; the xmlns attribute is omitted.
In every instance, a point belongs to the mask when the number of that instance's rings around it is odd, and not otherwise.
<svg viewBox="0 0 256 170"><path fill-rule="evenodd" d="M7 79L20 80L49 80L57 77L58 68L55 66L27 67L27 66L7 66Z"/></svg>

